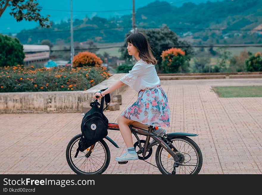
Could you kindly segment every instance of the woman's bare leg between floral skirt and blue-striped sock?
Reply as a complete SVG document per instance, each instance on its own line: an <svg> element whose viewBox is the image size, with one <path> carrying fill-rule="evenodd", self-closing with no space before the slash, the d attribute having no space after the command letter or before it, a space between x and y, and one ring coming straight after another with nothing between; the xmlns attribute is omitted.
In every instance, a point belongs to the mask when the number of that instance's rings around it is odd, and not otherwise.
<svg viewBox="0 0 262 195"><path fill-rule="evenodd" d="M132 134L130 131L130 128L128 125L130 125L133 121L129 120L127 118L124 118L122 115L120 115L117 119L117 123L120 129L120 133L124 139L124 142L127 146L127 148L133 147L133 139Z"/></svg>

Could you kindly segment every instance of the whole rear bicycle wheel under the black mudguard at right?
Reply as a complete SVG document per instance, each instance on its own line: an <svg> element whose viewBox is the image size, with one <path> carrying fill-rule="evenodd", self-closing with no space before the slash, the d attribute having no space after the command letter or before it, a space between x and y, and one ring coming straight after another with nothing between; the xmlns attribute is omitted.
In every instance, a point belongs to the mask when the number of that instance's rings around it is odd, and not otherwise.
<svg viewBox="0 0 262 195"><path fill-rule="evenodd" d="M155 158L159 171L162 174L198 174L203 162L203 157L198 145L188 137L174 137L171 139L172 145L178 151L178 163L175 166L174 158L161 145L157 147Z"/></svg>

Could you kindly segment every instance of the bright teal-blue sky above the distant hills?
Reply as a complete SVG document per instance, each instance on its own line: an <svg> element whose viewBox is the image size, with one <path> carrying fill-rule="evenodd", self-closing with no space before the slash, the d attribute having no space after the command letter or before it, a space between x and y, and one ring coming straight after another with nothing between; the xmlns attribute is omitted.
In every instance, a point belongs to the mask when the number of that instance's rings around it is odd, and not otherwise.
<svg viewBox="0 0 262 195"><path fill-rule="evenodd" d="M135 1L135 9L146 6L155 0ZM162 1L162 0L160 0ZM173 6L180 7L183 3L193 2L195 4L203 3L208 0L165 0ZM217 0L209 0L217 1ZM103 18L110 18L116 15L129 15L132 13L132 0L99 0L99 1L83 1L73 0L73 18L82 19L87 15L89 18L97 15ZM70 18L70 0L38 0L38 3L43 7L40 12L43 16L50 15L50 20L55 23L60 23L61 20ZM124 10L130 9L130 10ZM63 10L63 11L60 11ZM124 11L116 11L124 10ZM74 12L75 11L75 12ZM107 12L105 12L107 11ZM7 8L0 18L0 33L16 33L22 29L29 29L38 26L36 22L21 21L16 22L13 16L9 14L10 8Z"/></svg>

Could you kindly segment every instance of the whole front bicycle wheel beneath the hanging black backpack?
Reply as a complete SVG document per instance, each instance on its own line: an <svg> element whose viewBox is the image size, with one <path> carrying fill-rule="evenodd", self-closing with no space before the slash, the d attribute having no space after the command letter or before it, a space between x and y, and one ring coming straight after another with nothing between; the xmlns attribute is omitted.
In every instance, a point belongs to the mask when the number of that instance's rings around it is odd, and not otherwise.
<svg viewBox="0 0 262 195"><path fill-rule="evenodd" d="M108 145L101 140L83 152L79 151L75 158L81 135L73 137L66 147L66 161L69 167L77 174L102 174L110 163Z"/></svg>

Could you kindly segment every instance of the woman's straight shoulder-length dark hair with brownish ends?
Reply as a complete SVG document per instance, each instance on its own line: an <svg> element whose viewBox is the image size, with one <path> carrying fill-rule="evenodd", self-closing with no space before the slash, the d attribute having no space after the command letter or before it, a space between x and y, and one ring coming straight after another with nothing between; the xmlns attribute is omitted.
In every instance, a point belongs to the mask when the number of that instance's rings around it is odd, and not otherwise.
<svg viewBox="0 0 262 195"><path fill-rule="evenodd" d="M151 52L151 47L146 39L146 35L141 32L135 32L127 37L127 42L132 43L139 53L139 57L149 64L156 64L157 60Z"/></svg>

